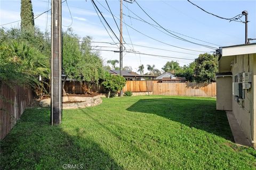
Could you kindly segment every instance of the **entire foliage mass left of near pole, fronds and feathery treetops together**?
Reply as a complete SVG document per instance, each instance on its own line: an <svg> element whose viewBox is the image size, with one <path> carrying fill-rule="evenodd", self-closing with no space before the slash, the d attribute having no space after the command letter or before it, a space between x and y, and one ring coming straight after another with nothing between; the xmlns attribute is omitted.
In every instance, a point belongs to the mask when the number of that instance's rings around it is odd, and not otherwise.
<svg viewBox="0 0 256 170"><path fill-rule="evenodd" d="M49 80L50 75L51 46L47 35L37 28L0 29L0 40L1 80L9 86L29 85L39 94L39 75L43 80ZM47 81L44 84L49 86Z"/></svg>

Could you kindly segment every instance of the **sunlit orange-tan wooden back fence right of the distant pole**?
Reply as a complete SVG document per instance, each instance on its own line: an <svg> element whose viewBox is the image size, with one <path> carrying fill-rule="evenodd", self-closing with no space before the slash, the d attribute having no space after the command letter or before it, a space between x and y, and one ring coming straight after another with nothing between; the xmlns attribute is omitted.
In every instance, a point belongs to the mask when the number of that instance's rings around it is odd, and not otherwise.
<svg viewBox="0 0 256 170"><path fill-rule="evenodd" d="M152 91L154 95L216 96L216 83L157 83L157 81L127 81L125 91Z"/></svg>

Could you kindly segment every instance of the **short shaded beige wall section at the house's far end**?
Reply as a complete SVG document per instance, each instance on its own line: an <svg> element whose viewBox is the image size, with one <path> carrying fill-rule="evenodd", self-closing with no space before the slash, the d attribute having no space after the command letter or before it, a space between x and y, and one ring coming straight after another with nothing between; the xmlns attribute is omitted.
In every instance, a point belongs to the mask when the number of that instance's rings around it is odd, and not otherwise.
<svg viewBox="0 0 256 170"><path fill-rule="evenodd" d="M217 77L217 110L232 111L232 77Z"/></svg>

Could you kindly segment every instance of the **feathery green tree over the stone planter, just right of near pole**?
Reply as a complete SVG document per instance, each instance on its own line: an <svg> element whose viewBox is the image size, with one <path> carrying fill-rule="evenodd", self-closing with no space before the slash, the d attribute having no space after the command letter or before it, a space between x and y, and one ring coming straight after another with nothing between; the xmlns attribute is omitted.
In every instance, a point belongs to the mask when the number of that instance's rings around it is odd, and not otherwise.
<svg viewBox="0 0 256 170"><path fill-rule="evenodd" d="M102 60L99 53L91 51L91 38L83 38L81 45L78 41L79 37L73 33L72 29L63 33L62 67L66 76L62 87L67 78L94 84L103 77ZM64 89L63 93L65 94Z"/></svg>

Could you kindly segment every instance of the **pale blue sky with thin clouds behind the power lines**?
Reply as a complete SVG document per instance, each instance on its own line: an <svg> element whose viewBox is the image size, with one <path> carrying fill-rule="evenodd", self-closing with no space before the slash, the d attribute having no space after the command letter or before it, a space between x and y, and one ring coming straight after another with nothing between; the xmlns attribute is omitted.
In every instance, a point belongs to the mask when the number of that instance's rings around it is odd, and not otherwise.
<svg viewBox="0 0 256 170"><path fill-rule="evenodd" d="M49 0L31 1L34 15L41 14L51 8ZM94 2L107 20L111 29L115 32L115 35L119 38L119 30L113 16L109 12L106 1L94 0ZM107 0L107 2L119 27L120 2L119 0ZM156 69L162 70L164 64L172 60L179 62L180 65L183 66L193 62L199 54L205 52L212 53L216 48L222 46L244 44L245 24L242 22L229 22L228 20L217 18L216 16L200 10L188 1L138 0L137 2L154 21L161 25L161 27L159 25L156 28L152 27L152 24L157 25L157 23L150 19L137 3L123 3L123 39L126 51L150 54L123 53L123 66L131 66L135 72L138 71L138 66L141 64L145 66L145 72L147 71L147 64L154 64ZM223 18L233 18L241 14L244 10L248 11L250 21L248 24L248 38L256 38L256 1L191 0L191 2ZM139 21L141 19L139 19L138 16L149 24ZM103 21L101 16L100 19ZM104 63L107 64L108 60L119 60L119 53L113 52L113 50L119 50L119 40L111 33L107 24L103 22L113 40L110 38L100 19L90 0L67 0L67 2L62 3L62 29L65 31L68 27L71 27L74 33L81 38L91 36L93 49L100 50L100 55ZM20 1L0 0L0 25L18 20L20 20ZM241 20L244 21L245 16L243 16ZM49 12L39 16L35 19L35 24L42 31L50 31L51 13ZM19 25L20 22L14 22L3 25L2 27L9 29L11 27L19 27ZM170 32L173 33L174 36L171 35ZM175 36L211 47L207 48L173 38ZM256 41L251 41L251 43L256 43Z"/></svg>

